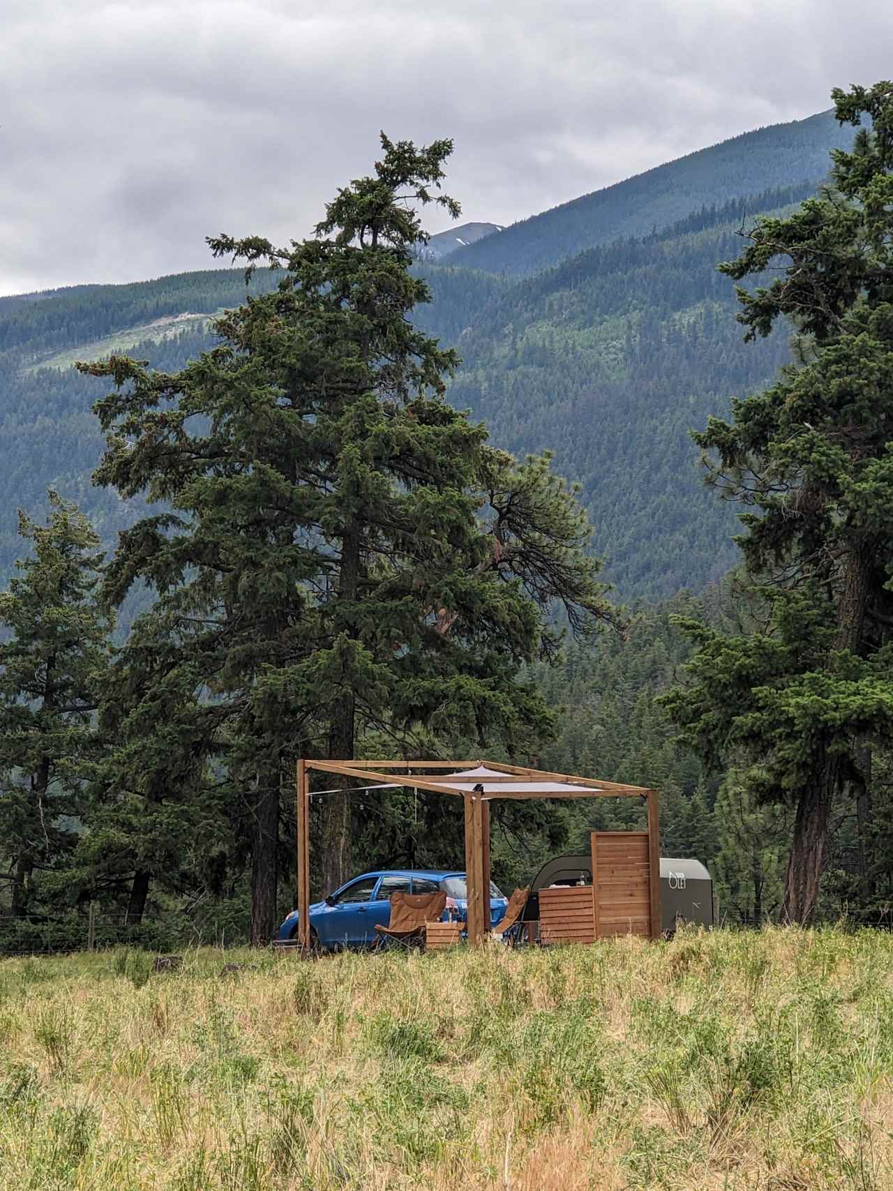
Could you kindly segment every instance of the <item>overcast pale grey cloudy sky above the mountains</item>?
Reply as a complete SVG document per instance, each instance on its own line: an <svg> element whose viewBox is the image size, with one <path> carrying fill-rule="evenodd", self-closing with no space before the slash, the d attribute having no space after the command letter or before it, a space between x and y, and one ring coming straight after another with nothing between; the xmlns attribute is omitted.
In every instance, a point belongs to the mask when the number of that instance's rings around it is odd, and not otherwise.
<svg viewBox="0 0 893 1191"><path fill-rule="evenodd" d="M893 71L889 0L0 11L0 294L211 267L219 231L305 236L380 129L452 137L463 218L511 223Z"/></svg>

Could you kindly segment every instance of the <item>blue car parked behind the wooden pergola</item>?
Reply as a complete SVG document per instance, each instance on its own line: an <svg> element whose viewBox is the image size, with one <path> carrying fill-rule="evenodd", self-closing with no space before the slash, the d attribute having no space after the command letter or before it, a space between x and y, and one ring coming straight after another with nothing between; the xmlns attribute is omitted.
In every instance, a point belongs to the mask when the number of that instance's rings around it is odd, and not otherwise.
<svg viewBox="0 0 893 1191"><path fill-rule="evenodd" d="M468 913L466 874L436 872L430 869L391 868L376 873L363 873L330 893L323 902L310 908L312 942L325 950L343 947L371 947L377 935L376 924L387 927L391 922L391 894L437 893L447 894L444 917L452 916L464 922ZM491 922L502 918L508 905L500 891L489 883ZM298 911L293 910L279 928L280 942L293 940L298 930Z"/></svg>

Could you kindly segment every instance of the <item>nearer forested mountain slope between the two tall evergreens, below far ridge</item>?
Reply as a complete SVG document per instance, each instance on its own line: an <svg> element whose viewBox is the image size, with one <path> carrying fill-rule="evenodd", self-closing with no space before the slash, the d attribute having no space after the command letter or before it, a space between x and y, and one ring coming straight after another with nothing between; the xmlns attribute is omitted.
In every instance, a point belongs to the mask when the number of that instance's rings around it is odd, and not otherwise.
<svg viewBox="0 0 893 1191"><path fill-rule="evenodd" d="M769 211L810 187L750 197ZM787 337L743 342L733 287L739 204L591 249L494 298L458 339L450 399L516 453L554 451L579 480L595 550L624 596L700 587L731 565L735 509L702 484L689 430L767 381Z"/></svg>

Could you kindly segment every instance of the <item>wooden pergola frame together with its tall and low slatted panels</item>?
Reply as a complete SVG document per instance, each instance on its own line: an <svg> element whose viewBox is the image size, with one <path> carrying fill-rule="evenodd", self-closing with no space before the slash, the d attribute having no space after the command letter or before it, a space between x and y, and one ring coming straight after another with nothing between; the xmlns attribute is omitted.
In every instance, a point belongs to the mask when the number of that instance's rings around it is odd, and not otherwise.
<svg viewBox="0 0 893 1191"><path fill-rule="evenodd" d="M489 936L489 804L498 798L639 798L647 806L644 831L593 831L588 885L542 887L537 893L542 942L592 942L619 935L660 939L661 862L657 791L644 786L580 778L495 761L317 761L298 762L298 929L295 942L310 950L310 773L317 771L363 782L364 791L425 790L460 797L464 807L467 937L480 947ZM416 772L414 772L416 771ZM350 784L343 782L349 791Z"/></svg>

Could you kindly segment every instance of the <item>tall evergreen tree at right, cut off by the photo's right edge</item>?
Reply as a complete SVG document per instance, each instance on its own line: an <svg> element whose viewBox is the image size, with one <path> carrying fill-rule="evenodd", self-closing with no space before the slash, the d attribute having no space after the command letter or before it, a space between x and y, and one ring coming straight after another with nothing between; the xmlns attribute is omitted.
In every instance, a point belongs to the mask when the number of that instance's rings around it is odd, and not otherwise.
<svg viewBox="0 0 893 1191"><path fill-rule="evenodd" d="M794 806L783 916L813 911L835 803L864 787L867 746L893 738L893 85L833 92L861 127L832 186L762 219L723 272L742 280L747 338L789 319L799 364L695 438L713 481L751 511L738 538L766 600L761 634L692 625L692 682L670 698L708 759L751 762L756 796Z"/></svg>

